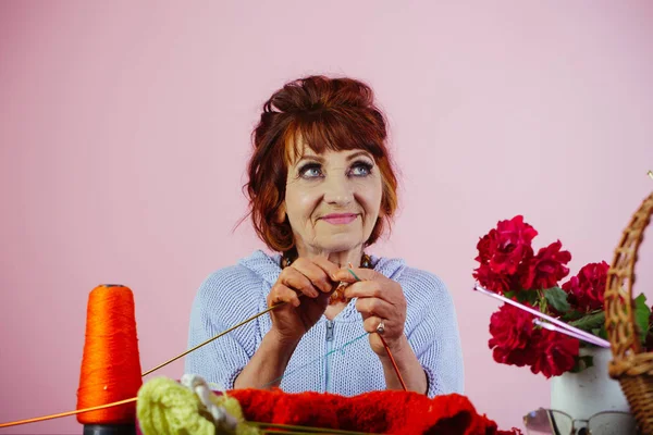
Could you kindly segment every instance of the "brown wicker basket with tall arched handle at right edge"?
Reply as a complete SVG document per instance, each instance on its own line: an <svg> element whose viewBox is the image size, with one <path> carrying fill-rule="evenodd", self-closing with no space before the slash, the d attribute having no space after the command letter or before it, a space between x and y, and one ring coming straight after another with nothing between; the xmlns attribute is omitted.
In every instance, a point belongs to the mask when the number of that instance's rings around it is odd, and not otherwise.
<svg viewBox="0 0 653 435"><path fill-rule="evenodd" d="M653 213L653 194L642 202L615 250L605 286L605 327L613 360L609 376L619 381L644 434L653 434L653 352L645 352L634 321L634 263Z"/></svg>

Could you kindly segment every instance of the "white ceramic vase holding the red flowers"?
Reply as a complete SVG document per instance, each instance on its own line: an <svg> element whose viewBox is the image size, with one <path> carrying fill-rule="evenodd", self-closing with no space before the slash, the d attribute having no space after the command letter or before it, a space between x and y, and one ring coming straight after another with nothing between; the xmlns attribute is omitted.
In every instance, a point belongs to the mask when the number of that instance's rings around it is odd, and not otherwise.
<svg viewBox="0 0 653 435"><path fill-rule="evenodd" d="M619 383L607 372L607 364L613 359L611 349L580 349L580 356L589 355L593 357L593 366L551 378L551 409L580 420L588 420L601 411L630 412ZM624 420L619 421L623 424ZM630 434L633 431L633 427L620 427L615 433Z"/></svg>

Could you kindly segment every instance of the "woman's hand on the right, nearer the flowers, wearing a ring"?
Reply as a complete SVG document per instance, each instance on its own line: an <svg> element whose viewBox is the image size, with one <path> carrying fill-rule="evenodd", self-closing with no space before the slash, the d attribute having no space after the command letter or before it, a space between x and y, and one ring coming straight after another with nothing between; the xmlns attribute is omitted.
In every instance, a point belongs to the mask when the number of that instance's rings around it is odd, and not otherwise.
<svg viewBox="0 0 653 435"><path fill-rule="evenodd" d="M356 310L362 314L364 328L370 334L370 346L379 357L386 358L387 353L377 333L379 324L383 322L383 338L395 353L401 351L407 339L404 335L406 322L406 298L404 290L396 281L390 279L370 269L353 269L356 277L347 270L341 269L333 275L334 279L350 283L345 288L347 298L358 298Z"/></svg>

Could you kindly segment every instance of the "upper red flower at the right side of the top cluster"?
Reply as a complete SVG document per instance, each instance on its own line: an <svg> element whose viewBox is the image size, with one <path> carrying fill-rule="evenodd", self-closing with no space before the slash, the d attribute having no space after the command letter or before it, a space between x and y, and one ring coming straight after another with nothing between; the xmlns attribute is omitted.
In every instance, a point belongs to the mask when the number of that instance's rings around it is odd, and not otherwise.
<svg viewBox="0 0 653 435"><path fill-rule="evenodd" d="M567 276L571 261L569 251L560 251L563 244L554 241L546 248L540 249L538 254L523 263L521 270L521 286L526 289L543 289L557 285L558 281Z"/></svg>

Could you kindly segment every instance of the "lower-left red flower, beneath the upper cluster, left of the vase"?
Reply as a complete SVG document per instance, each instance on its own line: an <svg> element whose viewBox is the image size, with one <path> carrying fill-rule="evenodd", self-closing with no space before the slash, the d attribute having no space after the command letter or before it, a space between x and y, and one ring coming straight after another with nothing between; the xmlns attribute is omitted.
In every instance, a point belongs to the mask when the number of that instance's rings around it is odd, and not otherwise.
<svg viewBox="0 0 653 435"><path fill-rule="evenodd" d="M492 338L488 346L494 361L517 366L532 364L535 359L533 332L532 314L505 303L490 318Z"/></svg>

